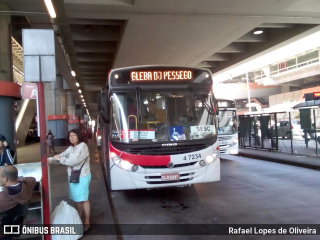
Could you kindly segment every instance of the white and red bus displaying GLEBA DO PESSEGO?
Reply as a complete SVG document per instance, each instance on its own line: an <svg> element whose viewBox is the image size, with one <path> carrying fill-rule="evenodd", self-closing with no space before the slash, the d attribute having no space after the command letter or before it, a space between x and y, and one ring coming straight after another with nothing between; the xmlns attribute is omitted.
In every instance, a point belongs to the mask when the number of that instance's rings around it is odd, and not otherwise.
<svg viewBox="0 0 320 240"><path fill-rule="evenodd" d="M98 97L111 190L220 180L216 101L205 68L117 68Z"/></svg>

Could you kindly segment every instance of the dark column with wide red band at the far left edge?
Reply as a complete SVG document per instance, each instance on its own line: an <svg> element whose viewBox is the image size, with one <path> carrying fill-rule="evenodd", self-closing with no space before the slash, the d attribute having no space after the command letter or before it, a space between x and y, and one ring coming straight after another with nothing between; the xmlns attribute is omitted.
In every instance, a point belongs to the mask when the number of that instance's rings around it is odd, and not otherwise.
<svg viewBox="0 0 320 240"><path fill-rule="evenodd" d="M10 8L0 3L0 10L9 11ZM13 83L11 80L10 22L10 15L0 15L0 134L5 136L10 148L16 151L13 105L14 98L21 96L19 94L19 85ZM18 92L16 92L16 90L18 90Z"/></svg>

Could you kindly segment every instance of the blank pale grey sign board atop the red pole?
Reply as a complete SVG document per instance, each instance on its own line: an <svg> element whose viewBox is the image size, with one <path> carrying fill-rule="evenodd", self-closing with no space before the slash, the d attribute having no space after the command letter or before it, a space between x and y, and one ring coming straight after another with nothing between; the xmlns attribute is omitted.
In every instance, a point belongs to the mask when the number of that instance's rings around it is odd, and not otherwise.
<svg viewBox="0 0 320 240"><path fill-rule="evenodd" d="M53 29L22 29L24 81L55 81Z"/></svg>

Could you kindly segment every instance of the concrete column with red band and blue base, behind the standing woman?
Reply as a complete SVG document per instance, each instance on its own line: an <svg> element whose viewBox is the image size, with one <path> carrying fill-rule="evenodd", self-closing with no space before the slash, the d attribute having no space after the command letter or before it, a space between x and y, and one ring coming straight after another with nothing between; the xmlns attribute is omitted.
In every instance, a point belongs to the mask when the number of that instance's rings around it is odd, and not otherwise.
<svg viewBox="0 0 320 240"><path fill-rule="evenodd" d="M46 129L51 129L54 146L67 144L68 119L66 106L66 90L63 89L62 76L56 76L56 81L45 84Z"/></svg>

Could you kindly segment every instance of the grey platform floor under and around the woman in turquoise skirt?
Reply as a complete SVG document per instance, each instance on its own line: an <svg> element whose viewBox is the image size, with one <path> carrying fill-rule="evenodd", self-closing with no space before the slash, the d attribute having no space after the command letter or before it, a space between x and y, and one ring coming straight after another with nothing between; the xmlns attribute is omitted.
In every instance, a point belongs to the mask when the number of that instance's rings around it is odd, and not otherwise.
<svg viewBox="0 0 320 240"><path fill-rule="evenodd" d="M110 203L105 187L102 167L100 164L99 154L94 140L88 141L88 148L90 152L90 171L91 181L89 185L89 202L90 202L90 227L83 232L80 239L85 240L99 240L99 239L117 239L116 235L96 235L95 228L99 228L99 224L113 224ZM56 146L55 151L61 153L67 146ZM31 143L16 149L17 163L32 163L40 161L40 143ZM47 157L54 156L54 153L47 153ZM66 201L69 205L75 208L72 200L68 199L68 181L67 181L67 167L62 164L50 164L49 168L50 194L51 194L51 210L62 201ZM26 220L32 216L32 212ZM37 216L40 217L40 216ZM21 235L20 238L28 238L33 240L40 240L42 236L34 236L32 238Z"/></svg>

